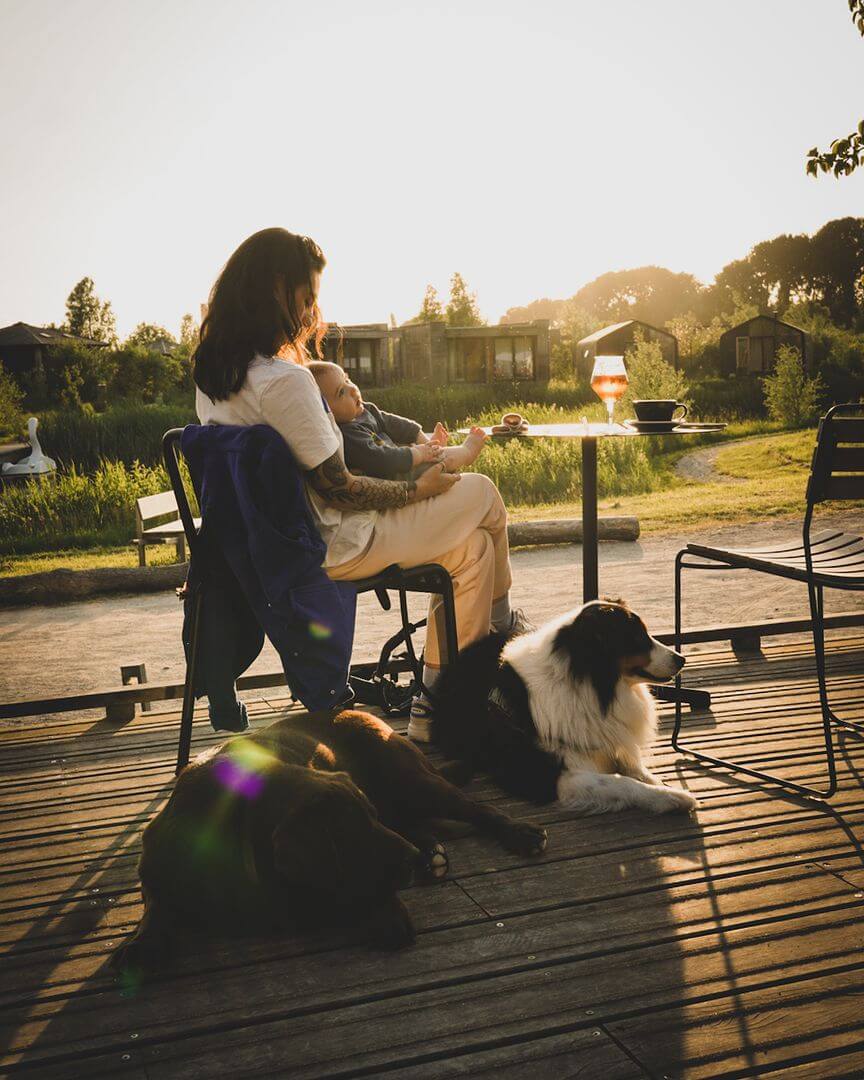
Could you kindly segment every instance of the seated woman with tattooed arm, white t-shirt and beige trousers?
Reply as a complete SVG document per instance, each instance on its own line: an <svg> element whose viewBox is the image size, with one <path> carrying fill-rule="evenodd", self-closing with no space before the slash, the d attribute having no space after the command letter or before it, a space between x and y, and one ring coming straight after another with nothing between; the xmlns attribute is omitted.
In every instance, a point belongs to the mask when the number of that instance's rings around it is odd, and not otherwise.
<svg viewBox="0 0 864 1080"><path fill-rule="evenodd" d="M308 237L264 229L226 264L210 296L194 353L195 405L202 423L267 423L306 470L307 490L327 545L324 567L337 581L387 566L440 563L454 582L459 644L494 625L522 630L510 608L507 511L486 476L445 473L434 465L418 480L355 476L312 374L326 334L318 308L325 259ZM429 608L423 681L434 688L443 640L441 599ZM432 706L419 696L408 734L429 741Z"/></svg>

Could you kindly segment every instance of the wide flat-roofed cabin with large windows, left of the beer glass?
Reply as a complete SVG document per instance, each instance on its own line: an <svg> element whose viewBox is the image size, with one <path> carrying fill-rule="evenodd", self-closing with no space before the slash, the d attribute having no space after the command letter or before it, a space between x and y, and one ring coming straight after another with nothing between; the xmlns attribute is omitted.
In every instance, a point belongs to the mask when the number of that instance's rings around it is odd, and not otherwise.
<svg viewBox="0 0 864 1080"><path fill-rule="evenodd" d="M496 326L407 323L391 334L394 377L401 382L549 381L552 332L548 319Z"/></svg>

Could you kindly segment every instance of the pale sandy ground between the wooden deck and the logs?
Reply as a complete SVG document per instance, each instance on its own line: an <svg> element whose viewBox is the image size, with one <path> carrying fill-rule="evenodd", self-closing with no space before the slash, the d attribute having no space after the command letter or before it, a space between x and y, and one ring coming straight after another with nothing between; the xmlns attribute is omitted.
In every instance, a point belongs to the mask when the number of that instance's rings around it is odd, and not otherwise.
<svg viewBox="0 0 864 1080"><path fill-rule="evenodd" d="M843 527L861 535L864 515L845 518ZM795 523L760 523L702 534L700 540L711 536L718 542L756 545L767 538L797 535ZM678 537L602 543L600 591L624 597L654 632L671 630L673 559L683 543ZM514 552L514 605L535 622L573 607L580 603L581 572L582 549L577 544ZM864 593L835 592L827 607L862 610ZM422 608L417 598L413 610L418 618ZM806 590L795 582L745 571L691 573L685 582L685 626L806 615ZM180 621L173 593L0 611L0 701L117 686L120 665L132 661L146 663L150 681L180 680ZM397 615L381 611L374 595L360 597L354 659L377 656L397 625ZM252 670L278 669L267 644Z"/></svg>

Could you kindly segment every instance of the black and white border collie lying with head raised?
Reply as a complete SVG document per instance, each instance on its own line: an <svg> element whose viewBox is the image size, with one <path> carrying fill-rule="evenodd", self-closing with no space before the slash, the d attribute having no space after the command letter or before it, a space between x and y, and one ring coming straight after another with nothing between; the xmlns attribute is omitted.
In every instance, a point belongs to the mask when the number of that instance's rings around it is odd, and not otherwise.
<svg viewBox="0 0 864 1080"><path fill-rule="evenodd" d="M651 637L621 600L592 600L519 637L463 649L436 689L445 755L512 795L583 813L690 812L697 800L643 765L657 713L646 683L684 657Z"/></svg>

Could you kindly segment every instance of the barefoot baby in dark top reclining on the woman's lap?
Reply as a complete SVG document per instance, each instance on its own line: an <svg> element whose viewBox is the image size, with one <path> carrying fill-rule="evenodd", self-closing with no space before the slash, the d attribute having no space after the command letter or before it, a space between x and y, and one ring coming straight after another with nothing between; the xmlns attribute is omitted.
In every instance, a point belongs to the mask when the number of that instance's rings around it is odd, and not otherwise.
<svg viewBox="0 0 864 1080"><path fill-rule="evenodd" d="M313 360L309 370L339 424L346 465L364 476L414 480L435 462L442 462L446 472L458 472L476 460L488 437L481 428L472 428L461 446L447 446L449 433L443 423L435 424L430 437L416 420L364 402L337 364Z"/></svg>

